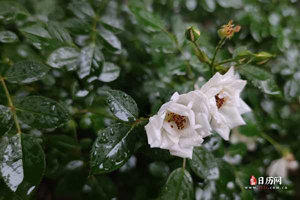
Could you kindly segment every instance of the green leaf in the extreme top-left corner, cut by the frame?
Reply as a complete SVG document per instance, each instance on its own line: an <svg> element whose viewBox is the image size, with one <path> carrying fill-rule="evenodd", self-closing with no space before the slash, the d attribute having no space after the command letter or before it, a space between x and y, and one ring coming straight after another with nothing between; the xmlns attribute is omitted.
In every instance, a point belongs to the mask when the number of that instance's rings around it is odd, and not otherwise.
<svg viewBox="0 0 300 200"><path fill-rule="evenodd" d="M0 19L5 21L23 18L29 15L28 11L19 3L14 1L0 1Z"/></svg>

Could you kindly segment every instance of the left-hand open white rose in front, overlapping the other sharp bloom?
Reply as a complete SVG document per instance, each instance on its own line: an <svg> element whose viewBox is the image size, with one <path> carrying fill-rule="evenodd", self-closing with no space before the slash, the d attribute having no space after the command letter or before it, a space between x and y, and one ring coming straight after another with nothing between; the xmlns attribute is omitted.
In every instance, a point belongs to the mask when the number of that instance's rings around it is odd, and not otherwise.
<svg viewBox="0 0 300 200"><path fill-rule="evenodd" d="M169 149L170 154L192 157L193 146L199 146L211 134L209 104L200 91L179 95L164 103L145 125L150 147Z"/></svg>

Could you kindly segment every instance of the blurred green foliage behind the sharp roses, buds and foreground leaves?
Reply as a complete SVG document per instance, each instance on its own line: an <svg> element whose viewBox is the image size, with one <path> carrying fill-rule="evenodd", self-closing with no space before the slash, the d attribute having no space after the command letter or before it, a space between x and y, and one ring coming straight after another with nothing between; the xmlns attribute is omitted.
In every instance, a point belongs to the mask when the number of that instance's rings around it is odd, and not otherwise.
<svg viewBox="0 0 300 200"><path fill-rule="evenodd" d="M242 189L250 175L265 175L269 163L281 157L261 132L300 159L297 0L10 0L0 1L0 5L7 2L15 4L0 6L1 74L21 60L52 65L41 80L20 85L7 82L11 96L46 96L70 115L70 120L57 128L21 123L22 132L35 137L45 154L44 176L33 199L158 197L170 172L181 167L182 159L148 148L142 126L135 128L134 152L121 168L102 175L89 174L93 141L103 128L120 122L109 111L104 90L118 89L130 95L137 103L139 117L154 114L172 92L192 90L201 84L199 76L203 80L211 76L209 67L197 60L192 45L184 39L185 28L194 24L200 29L198 44L211 57L219 40L216 31L229 19L241 25L241 30L226 41L217 60L232 57L241 46L276 57L265 65L244 65L250 71L240 71L242 78L249 80L243 99L253 112L244 116L247 125L239 131L258 138L256 150L247 151L243 143L230 144L216 134L209 136L204 143L208 150L201 153L207 153L201 171L217 167L219 178L193 172L188 162L194 189L202 191L201 199L300 197L297 171L290 173L291 181L284 182L288 191ZM3 32L7 30L12 32L8 36ZM87 50L94 52L90 55L93 64L76 68L79 52L86 46L93 48ZM57 49L61 47L68 57L59 57ZM2 87L0 104L7 105ZM12 127L10 132L15 130ZM224 156L236 163L224 162ZM16 198L2 179L0 190L0 199Z"/></svg>

